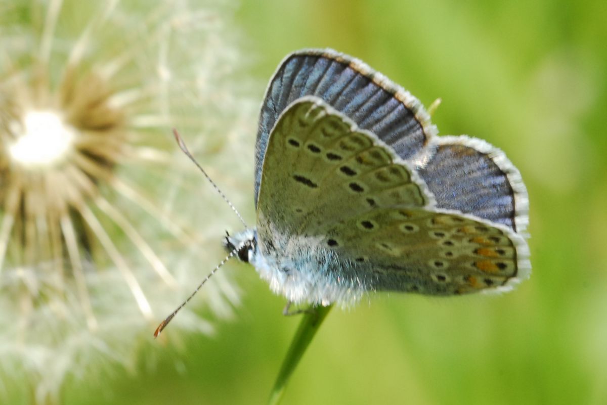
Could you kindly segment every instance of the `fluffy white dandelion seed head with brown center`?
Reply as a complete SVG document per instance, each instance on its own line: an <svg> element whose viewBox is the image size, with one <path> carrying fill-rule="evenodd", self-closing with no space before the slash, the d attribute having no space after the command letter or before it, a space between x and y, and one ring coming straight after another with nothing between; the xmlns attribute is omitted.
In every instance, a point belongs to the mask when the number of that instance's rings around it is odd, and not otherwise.
<svg viewBox="0 0 607 405"><path fill-rule="evenodd" d="M68 375L129 363L199 281L203 224L232 217L201 212L171 128L200 134L194 149L252 150L228 18L219 2L0 2L0 396L57 402ZM208 295L226 315L238 297L221 277ZM186 309L173 329L212 326Z"/></svg>

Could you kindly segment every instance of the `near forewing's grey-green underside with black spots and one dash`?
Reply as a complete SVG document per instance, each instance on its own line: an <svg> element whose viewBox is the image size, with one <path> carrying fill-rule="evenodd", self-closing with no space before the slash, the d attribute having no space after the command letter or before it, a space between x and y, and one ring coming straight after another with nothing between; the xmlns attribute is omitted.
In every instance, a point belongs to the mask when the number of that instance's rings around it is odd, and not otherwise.
<svg viewBox="0 0 607 405"><path fill-rule="evenodd" d="M319 99L300 99L271 133L258 210L280 229L311 235L359 212L426 205L426 186L379 142Z"/></svg>

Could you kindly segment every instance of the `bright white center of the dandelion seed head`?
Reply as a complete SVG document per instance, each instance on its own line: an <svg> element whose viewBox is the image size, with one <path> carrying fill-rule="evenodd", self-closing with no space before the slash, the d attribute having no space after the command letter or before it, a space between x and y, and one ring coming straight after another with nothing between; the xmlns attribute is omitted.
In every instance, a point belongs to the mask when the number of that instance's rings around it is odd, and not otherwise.
<svg viewBox="0 0 607 405"><path fill-rule="evenodd" d="M73 129L56 113L30 111L23 119L24 130L10 146L10 155L25 166L44 166L63 158L73 139Z"/></svg>

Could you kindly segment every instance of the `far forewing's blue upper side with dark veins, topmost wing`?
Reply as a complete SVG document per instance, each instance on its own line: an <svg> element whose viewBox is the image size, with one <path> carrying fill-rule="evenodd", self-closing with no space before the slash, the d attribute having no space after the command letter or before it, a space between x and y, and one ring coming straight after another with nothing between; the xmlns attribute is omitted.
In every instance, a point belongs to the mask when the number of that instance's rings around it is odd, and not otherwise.
<svg viewBox="0 0 607 405"><path fill-rule="evenodd" d="M288 55L268 85L256 142L255 201L263 156L277 118L294 100L313 95L375 133L404 160L427 153L436 127L418 99L359 59L331 49Z"/></svg>

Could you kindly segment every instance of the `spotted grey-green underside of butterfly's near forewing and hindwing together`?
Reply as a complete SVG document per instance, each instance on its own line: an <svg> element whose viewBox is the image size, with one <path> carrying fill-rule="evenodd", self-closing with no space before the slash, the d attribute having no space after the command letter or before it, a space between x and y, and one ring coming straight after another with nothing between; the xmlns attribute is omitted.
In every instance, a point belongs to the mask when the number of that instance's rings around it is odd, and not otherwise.
<svg viewBox="0 0 607 405"><path fill-rule="evenodd" d="M436 208L415 170L314 97L293 102L271 132L257 216L262 253L277 232L316 241L337 288L452 295L503 289L528 267L521 236Z"/></svg>

